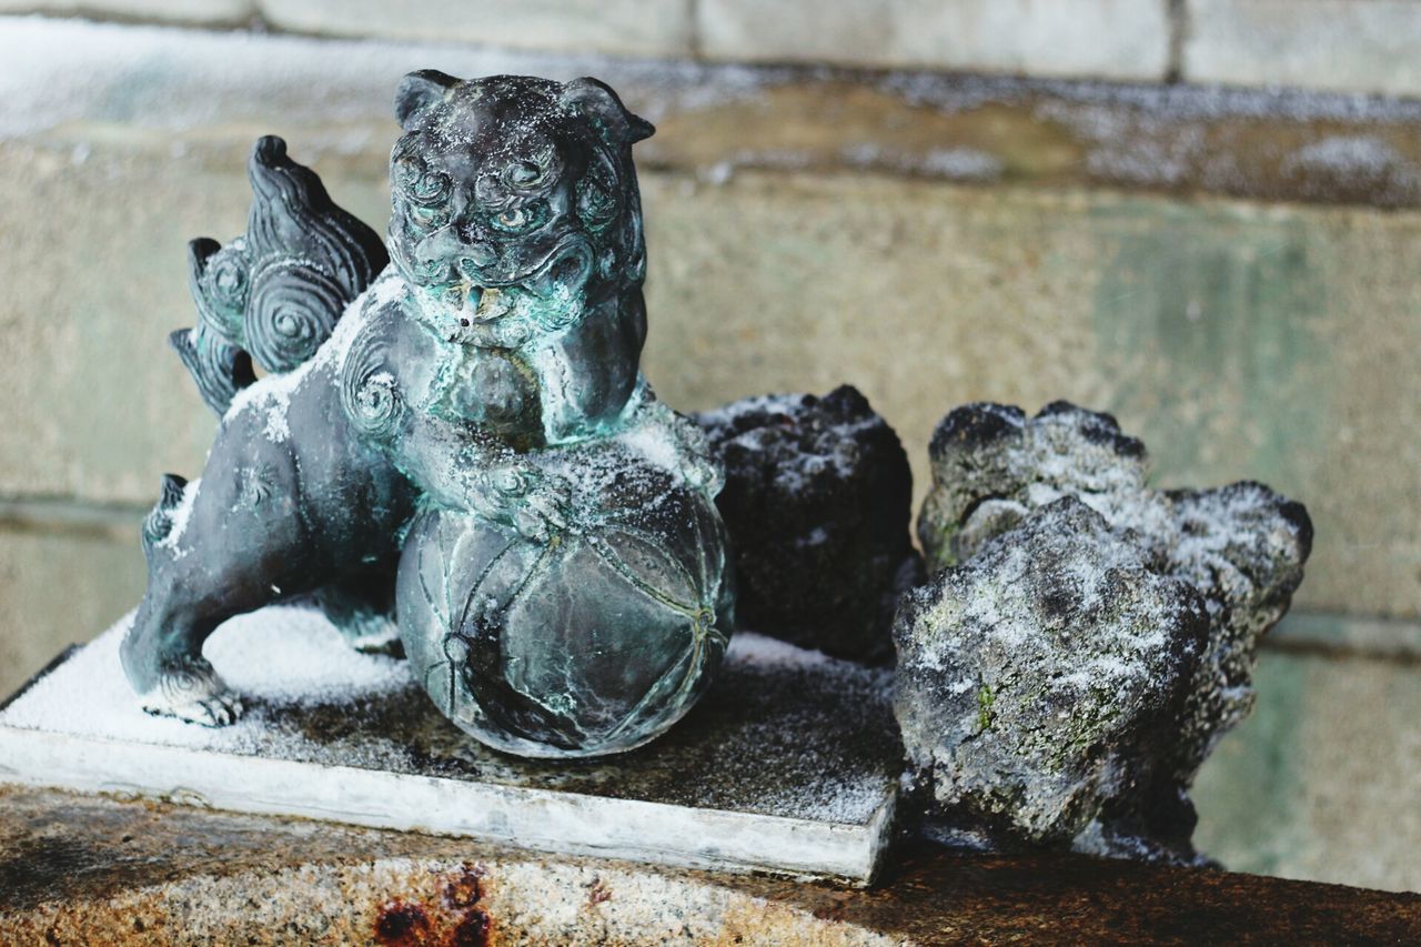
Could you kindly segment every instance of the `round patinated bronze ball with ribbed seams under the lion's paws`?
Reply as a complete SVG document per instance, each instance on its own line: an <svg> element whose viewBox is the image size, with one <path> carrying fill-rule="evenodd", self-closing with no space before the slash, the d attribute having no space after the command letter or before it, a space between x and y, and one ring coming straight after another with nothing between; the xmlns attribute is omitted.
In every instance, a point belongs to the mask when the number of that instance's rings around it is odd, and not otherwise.
<svg viewBox="0 0 1421 947"><path fill-rule="evenodd" d="M421 513L398 613L439 710L496 749L543 758L628 751L685 715L720 665L733 590L713 505L672 499L681 515L604 506L546 542Z"/></svg>

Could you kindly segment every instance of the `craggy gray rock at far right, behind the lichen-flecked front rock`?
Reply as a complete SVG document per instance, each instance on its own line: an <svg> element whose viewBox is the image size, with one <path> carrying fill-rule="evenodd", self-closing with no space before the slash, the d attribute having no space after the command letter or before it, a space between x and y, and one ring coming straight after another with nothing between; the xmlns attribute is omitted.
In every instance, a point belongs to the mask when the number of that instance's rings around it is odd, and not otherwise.
<svg viewBox="0 0 1421 947"><path fill-rule="evenodd" d="M1259 636L1287 611L1312 550L1307 510L1262 483L1148 488L1144 445L1108 414L1057 401L1034 418L969 404L948 414L929 448L934 483L918 520L932 567L973 556L1061 496L1098 512L1147 567L1192 584L1208 640L1171 739L1135 766L1076 847L1127 857L1198 860L1188 786L1219 737L1250 710Z"/></svg>

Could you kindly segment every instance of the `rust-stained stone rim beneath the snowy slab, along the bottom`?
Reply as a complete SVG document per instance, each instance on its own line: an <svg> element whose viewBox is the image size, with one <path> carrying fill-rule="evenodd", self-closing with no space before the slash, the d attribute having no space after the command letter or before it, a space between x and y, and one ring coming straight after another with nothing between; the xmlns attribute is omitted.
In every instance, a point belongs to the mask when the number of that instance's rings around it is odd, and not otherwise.
<svg viewBox="0 0 1421 947"><path fill-rule="evenodd" d="M1407 943L1421 937L1421 897L941 852L907 853L882 887L851 892L0 791L6 940L392 943L399 933L475 944Z"/></svg>

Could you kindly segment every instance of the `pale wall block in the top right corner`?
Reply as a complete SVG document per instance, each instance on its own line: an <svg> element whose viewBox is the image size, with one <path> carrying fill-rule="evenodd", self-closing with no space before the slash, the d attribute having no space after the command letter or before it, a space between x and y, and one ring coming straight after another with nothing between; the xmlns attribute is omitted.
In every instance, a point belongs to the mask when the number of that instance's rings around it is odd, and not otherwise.
<svg viewBox="0 0 1421 947"><path fill-rule="evenodd" d="M1421 94L1414 0L1187 0L1191 82Z"/></svg>

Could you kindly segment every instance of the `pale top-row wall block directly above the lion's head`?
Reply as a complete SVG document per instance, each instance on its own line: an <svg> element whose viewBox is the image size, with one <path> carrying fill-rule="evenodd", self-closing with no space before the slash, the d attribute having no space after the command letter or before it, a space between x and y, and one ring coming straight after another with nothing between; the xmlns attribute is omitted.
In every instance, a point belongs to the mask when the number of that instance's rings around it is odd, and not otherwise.
<svg viewBox="0 0 1421 947"><path fill-rule="evenodd" d="M418 10L388 0L259 0L273 26L321 36L431 40L486 46L688 55L689 0L499 0L469 6L425 0Z"/></svg>

